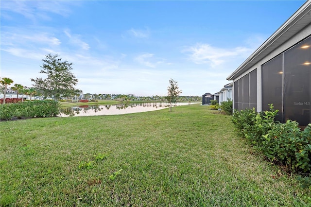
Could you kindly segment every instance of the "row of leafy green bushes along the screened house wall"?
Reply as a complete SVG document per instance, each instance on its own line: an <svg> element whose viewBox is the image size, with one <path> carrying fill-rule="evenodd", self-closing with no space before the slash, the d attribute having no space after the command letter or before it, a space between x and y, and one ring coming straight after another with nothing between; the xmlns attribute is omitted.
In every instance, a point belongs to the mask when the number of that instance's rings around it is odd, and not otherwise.
<svg viewBox="0 0 311 207"><path fill-rule="evenodd" d="M289 173L311 173L311 124L304 130L296 121L275 121L278 110L257 113L255 109L235 111L233 122L239 134L270 161L286 167Z"/></svg>

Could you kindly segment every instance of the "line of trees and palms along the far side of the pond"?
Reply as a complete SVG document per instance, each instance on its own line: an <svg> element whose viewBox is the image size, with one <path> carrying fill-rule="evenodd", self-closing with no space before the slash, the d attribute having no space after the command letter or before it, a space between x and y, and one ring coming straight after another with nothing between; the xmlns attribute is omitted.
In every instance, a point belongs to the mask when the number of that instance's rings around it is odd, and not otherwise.
<svg viewBox="0 0 311 207"><path fill-rule="evenodd" d="M176 101L200 101L199 96L183 96L179 97L181 90L179 90L177 82L170 79L167 96L135 96L133 94L83 94L83 91L75 88L78 79L71 72L72 63L63 61L58 54L47 54L45 59L42 59L43 64L39 73L45 74L46 78L31 78L34 87L26 87L21 84L15 84L11 90L18 95L29 95L30 100L33 96L40 96L45 98L52 98L55 101L60 99L87 99L87 100L120 100L120 101L168 101L175 103ZM10 78L4 77L0 79L3 91L3 104L5 104L5 96L8 86L14 81Z"/></svg>

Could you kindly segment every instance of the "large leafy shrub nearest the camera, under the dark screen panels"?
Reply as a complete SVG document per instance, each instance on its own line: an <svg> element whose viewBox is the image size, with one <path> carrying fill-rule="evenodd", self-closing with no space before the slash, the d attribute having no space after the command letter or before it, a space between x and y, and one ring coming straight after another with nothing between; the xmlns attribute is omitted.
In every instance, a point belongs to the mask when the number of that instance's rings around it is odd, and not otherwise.
<svg viewBox="0 0 311 207"><path fill-rule="evenodd" d="M296 121L274 124L262 136L260 150L271 161L282 163L290 172L311 172L311 124L301 131Z"/></svg>

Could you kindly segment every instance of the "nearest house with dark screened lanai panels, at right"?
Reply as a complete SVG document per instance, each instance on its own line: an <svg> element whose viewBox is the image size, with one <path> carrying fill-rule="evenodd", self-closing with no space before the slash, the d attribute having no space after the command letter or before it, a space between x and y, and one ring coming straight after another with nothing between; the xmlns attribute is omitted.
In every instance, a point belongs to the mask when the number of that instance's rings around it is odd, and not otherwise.
<svg viewBox="0 0 311 207"><path fill-rule="evenodd" d="M311 0L306 1L242 65L233 81L233 107L259 112L274 104L281 122L311 123Z"/></svg>

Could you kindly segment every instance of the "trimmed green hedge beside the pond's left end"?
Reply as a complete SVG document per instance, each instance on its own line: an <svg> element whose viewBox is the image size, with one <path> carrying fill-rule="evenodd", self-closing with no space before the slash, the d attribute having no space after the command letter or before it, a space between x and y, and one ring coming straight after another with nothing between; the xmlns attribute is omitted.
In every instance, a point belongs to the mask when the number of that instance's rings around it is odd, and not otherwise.
<svg viewBox="0 0 311 207"><path fill-rule="evenodd" d="M59 104L55 101L18 102L1 104L0 119L55 117L59 114Z"/></svg>

